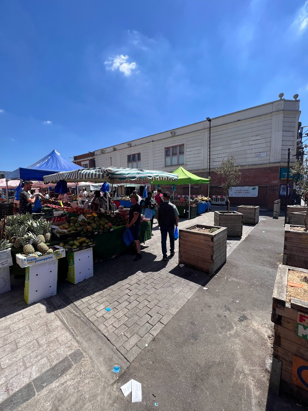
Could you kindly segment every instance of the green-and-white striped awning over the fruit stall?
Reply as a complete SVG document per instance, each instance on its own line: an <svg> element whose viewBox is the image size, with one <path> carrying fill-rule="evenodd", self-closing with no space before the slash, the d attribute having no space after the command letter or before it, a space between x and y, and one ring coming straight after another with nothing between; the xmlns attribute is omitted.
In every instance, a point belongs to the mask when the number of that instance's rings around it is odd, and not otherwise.
<svg viewBox="0 0 308 411"><path fill-rule="evenodd" d="M154 180L154 181L176 181L176 173L165 171L124 169L117 167L93 168L67 171L44 176L45 184L65 180L67 182L96 181L96 182L123 182L125 180Z"/></svg>

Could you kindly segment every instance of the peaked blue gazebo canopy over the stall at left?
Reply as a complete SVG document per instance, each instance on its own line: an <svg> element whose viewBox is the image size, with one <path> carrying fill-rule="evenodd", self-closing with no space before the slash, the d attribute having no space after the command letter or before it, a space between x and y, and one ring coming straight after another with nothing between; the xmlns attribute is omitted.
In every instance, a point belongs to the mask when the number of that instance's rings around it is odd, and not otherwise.
<svg viewBox="0 0 308 411"><path fill-rule="evenodd" d="M7 180L34 180L44 181L44 175L59 173L60 171L73 171L82 169L78 164L65 159L56 150L41 158L38 162L27 168L19 168L8 173Z"/></svg>

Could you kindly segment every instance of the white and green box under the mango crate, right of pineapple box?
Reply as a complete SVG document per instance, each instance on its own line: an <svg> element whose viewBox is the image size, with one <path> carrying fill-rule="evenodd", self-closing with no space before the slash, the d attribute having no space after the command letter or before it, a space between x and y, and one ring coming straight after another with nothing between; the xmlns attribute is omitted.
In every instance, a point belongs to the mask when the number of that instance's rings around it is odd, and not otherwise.
<svg viewBox="0 0 308 411"><path fill-rule="evenodd" d="M77 284L86 278L93 277L93 249L91 247L67 254L69 272L67 280Z"/></svg>

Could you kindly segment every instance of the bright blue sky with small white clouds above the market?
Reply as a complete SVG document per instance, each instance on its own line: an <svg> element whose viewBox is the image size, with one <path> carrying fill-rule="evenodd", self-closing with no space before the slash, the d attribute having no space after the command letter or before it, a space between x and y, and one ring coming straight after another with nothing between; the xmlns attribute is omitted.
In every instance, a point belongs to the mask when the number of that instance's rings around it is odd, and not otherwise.
<svg viewBox="0 0 308 411"><path fill-rule="evenodd" d="M308 1L2 0L0 170L295 93L308 125ZM4 154L5 153L5 154Z"/></svg>

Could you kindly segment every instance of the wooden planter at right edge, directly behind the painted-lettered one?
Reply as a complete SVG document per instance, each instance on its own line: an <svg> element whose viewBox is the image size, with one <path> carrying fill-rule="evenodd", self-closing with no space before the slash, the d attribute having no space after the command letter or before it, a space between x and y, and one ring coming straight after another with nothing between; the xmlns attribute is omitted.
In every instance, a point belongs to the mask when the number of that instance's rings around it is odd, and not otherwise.
<svg viewBox="0 0 308 411"><path fill-rule="evenodd" d="M295 226L303 227L298 224ZM285 224L283 264L292 267L308 268L308 232L295 231L292 230L292 227L294 225Z"/></svg>

